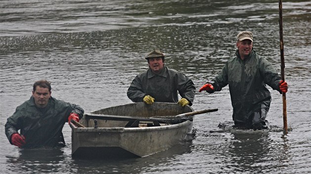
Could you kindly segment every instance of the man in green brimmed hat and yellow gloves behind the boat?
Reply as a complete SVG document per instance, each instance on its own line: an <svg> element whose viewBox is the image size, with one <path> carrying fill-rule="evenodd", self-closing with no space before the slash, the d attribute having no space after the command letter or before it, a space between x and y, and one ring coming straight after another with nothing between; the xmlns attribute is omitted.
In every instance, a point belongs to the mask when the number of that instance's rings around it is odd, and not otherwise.
<svg viewBox="0 0 311 174"><path fill-rule="evenodd" d="M178 103L182 107L191 106L195 94L194 83L183 73L167 68L164 57L158 48L147 55L149 69L134 78L127 90L128 98L147 104L168 102ZM182 97L180 100L177 91Z"/></svg>

